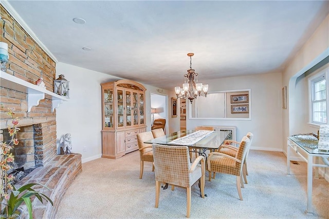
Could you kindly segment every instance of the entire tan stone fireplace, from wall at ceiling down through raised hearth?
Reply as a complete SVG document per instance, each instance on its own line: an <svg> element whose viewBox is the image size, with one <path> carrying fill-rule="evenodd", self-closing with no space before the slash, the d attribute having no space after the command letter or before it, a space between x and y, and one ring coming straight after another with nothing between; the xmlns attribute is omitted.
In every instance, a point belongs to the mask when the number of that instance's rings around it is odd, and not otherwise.
<svg viewBox="0 0 329 219"><path fill-rule="evenodd" d="M8 7L8 6L6 6ZM19 126L26 127L36 125L42 131L38 137L38 166L29 175L17 182L20 185L36 182L49 188L35 188L51 198L50 203L42 204L37 198L32 202L34 218L54 218L58 204L67 191L71 182L81 172L81 155L57 155L57 132L56 132L56 108L53 96L53 80L56 79L56 62L22 27L23 24L0 5L0 26L2 28L1 41L8 44L9 62L7 72L1 72L0 83L0 130L7 129L11 124L11 118L7 115L7 108L15 108L15 117L19 118ZM12 11L11 11L12 12ZM15 16L15 14L13 14ZM15 16L17 19L19 16ZM24 26L24 25L23 25ZM33 34L32 34L33 35ZM39 78L43 78L46 85L44 98L38 104L30 106L28 92L7 86L8 82L3 80L7 74L25 83L35 84ZM34 94L32 94L34 96ZM65 104L65 103L64 103ZM2 132L0 140L3 141ZM20 139L19 139L20 140ZM34 139L35 140L35 139ZM35 143L33 143L35 144ZM28 218L26 207L22 206L23 218Z"/></svg>

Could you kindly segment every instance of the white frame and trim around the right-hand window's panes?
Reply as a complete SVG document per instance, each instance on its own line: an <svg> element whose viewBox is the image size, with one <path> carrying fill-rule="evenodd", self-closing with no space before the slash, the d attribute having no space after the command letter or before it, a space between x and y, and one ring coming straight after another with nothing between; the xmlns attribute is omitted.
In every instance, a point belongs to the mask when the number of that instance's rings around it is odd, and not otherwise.
<svg viewBox="0 0 329 219"><path fill-rule="evenodd" d="M325 80L325 100L314 100L315 98L315 83ZM309 95L309 123L314 125L322 125L322 124L329 124L329 67L326 67L319 71L314 76L308 78L308 95ZM313 111L313 104L317 102L325 102L326 103L326 122L318 122L314 121L314 111Z"/></svg>

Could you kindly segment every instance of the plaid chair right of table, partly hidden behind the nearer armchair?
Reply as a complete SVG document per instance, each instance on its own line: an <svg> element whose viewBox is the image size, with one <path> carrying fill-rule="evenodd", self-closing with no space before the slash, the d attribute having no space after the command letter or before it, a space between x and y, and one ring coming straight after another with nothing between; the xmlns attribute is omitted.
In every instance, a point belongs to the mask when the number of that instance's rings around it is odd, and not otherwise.
<svg viewBox="0 0 329 219"><path fill-rule="evenodd" d="M252 139L253 139L253 134L251 132L248 132L246 136L250 139L250 145L251 145L251 142L252 142ZM234 147L234 145L239 146L239 144L240 144L240 142L237 142L237 141L225 140L224 144L221 145L221 147L217 150L217 152L235 157L238 148ZM249 149L250 149L250 147L249 147ZM242 173L243 173L243 178L245 180L245 184L248 184L248 181L247 181L247 175L248 175L247 159L248 159L248 154L249 154L249 150L247 151L245 160L243 161L243 168L242 168Z"/></svg>

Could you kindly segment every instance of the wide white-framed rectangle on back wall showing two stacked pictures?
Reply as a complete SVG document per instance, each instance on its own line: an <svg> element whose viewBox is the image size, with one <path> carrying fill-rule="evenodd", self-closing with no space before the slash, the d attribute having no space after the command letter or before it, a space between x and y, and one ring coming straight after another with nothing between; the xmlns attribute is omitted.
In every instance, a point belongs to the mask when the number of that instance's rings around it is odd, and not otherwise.
<svg viewBox="0 0 329 219"><path fill-rule="evenodd" d="M189 119L251 119L250 89L210 92L189 107Z"/></svg>

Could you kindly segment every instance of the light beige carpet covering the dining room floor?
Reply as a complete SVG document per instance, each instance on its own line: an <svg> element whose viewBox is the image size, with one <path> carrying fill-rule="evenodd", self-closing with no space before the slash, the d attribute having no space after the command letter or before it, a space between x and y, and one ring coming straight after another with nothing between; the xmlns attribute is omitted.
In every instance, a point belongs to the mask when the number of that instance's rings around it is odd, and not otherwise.
<svg viewBox="0 0 329 219"><path fill-rule="evenodd" d="M315 216L306 215L306 164L291 165L281 152L250 151L248 184L239 199L235 176L216 174L206 180L201 198L192 187L191 218L329 218L329 182L314 179ZM160 191L155 208L152 164L144 163L139 179L139 152L117 160L100 158L83 163L82 173L62 197L56 218L186 218L186 191ZM208 172L206 174L208 177Z"/></svg>

